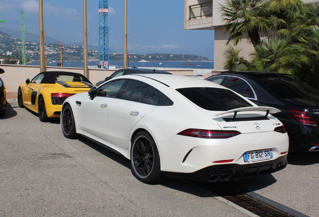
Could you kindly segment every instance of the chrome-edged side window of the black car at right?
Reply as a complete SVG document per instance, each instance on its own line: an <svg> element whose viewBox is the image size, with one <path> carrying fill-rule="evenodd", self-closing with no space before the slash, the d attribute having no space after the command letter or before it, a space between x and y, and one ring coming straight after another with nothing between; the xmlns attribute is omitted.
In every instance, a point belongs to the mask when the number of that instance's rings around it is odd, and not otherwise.
<svg viewBox="0 0 319 217"><path fill-rule="evenodd" d="M254 92L249 84L239 77L230 76L224 86L241 94L242 96L255 98Z"/></svg>

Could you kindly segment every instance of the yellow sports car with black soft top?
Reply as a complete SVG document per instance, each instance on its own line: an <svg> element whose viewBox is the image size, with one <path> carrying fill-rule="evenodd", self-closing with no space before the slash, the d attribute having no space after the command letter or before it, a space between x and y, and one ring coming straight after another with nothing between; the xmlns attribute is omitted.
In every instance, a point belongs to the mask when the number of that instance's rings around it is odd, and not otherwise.
<svg viewBox="0 0 319 217"><path fill-rule="evenodd" d="M82 74L63 71L41 72L20 84L18 104L38 113L42 122L59 118L64 100L79 92L88 92L92 83Z"/></svg>

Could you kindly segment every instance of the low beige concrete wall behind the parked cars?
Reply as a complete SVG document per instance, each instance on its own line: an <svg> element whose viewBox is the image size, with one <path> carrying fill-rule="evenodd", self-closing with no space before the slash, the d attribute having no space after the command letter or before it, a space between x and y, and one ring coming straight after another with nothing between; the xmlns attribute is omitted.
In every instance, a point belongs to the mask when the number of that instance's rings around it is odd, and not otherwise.
<svg viewBox="0 0 319 217"><path fill-rule="evenodd" d="M0 74L3 79L7 92L18 92L19 85L25 82L28 78L30 80L40 73L40 66L28 66L28 65L7 65L0 64L0 68L5 70L4 74ZM194 69L172 69L172 68L161 68L171 72L172 74L194 76ZM69 71L84 74L83 68L67 68L67 67L47 67L47 71ZM100 80L104 80L105 77L110 76L114 71L111 69L89 69L88 79L95 84Z"/></svg>

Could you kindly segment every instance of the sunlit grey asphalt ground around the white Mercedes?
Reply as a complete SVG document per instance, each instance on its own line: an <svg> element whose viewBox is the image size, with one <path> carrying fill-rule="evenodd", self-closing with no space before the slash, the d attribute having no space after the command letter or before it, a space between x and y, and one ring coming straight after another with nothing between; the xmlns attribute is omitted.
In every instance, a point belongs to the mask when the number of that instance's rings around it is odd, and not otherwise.
<svg viewBox="0 0 319 217"><path fill-rule="evenodd" d="M129 160L85 138L66 139L59 120L42 123L14 100L7 108L0 119L1 216L254 216L190 181L141 183ZM289 155L282 171L232 183L319 216L318 165L319 152Z"/></svg>

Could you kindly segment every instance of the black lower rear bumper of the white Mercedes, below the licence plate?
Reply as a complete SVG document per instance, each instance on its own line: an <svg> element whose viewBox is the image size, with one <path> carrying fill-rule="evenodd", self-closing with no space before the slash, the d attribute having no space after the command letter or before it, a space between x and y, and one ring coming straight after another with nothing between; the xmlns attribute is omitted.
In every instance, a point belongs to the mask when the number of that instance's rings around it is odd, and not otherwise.
<svg viewBox="0 0 319 217"><path fill-rule="evenodd" d="M220 182L266 175L282 170L286 166L287 155L284 155L271 161L263 161L254 164L220 164L209 166L192 173L163 172L163 174L170 178Z"/></svg>

